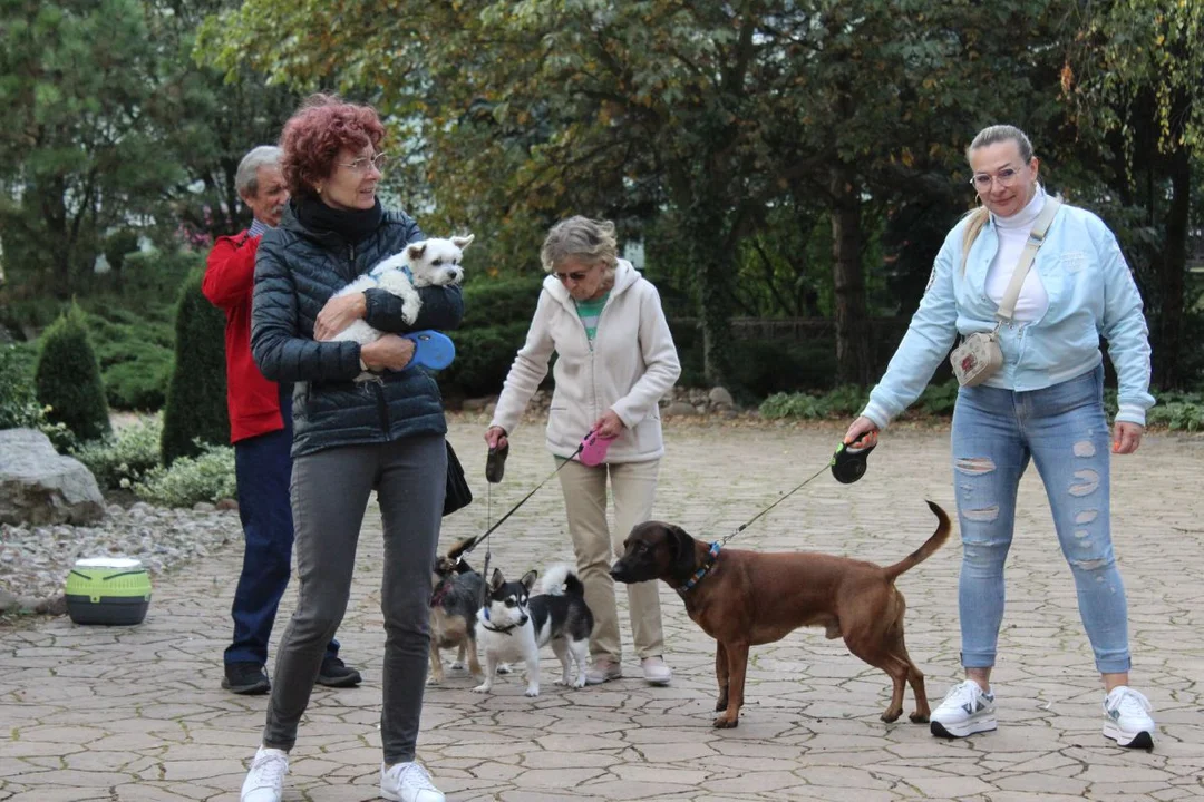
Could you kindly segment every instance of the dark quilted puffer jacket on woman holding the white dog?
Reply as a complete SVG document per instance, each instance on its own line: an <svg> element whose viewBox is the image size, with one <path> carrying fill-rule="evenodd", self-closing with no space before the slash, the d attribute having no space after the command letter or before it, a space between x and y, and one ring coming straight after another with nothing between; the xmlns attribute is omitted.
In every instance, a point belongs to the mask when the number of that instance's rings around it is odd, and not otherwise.
<svg viewBox="0 0 1204 802"><path fill-rule="evenodd" d="M293 381L293 456L334 446L385 442L415 434L443 434L443 399L424 368L384 373L380 382L355 382L356 343L317 343L318 313L338 290L406 243L424 239L414 220L386 212L380 227L356 245L336 233L311 231L284 212L279 228L264 234L255 257L250 347L264 375ZM423 308L413 326L401 299L368 290L366 320L383 332L453 329L464 316L460 287L419 290Z"/></svg>

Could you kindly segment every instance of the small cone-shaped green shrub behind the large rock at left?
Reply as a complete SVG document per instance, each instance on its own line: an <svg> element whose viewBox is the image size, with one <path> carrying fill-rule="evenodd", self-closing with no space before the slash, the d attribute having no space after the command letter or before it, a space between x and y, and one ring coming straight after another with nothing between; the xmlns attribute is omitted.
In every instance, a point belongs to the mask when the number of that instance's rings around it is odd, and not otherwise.
<svg viewBox="0 0 1204 802"><path fill-rule="evenodd" d="M51 408L52 423L63 423L79 440L108 434L100 366L83 310L75 302L42 335L34 381L37 400Z"/></svg>

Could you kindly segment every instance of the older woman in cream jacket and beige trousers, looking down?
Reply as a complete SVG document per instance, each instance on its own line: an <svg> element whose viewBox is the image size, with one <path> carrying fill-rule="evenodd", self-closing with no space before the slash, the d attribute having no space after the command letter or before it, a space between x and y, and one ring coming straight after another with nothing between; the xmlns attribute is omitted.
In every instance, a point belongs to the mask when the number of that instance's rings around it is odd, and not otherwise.
<svg viewBox="0 0 1204 802"><path fill-rule="evenodd" d="M656 287L618 259L616 248L610 222L577 216L549 232L541 256L550 275L485 433L491 447L506 445L555 354L547 446L557 465L569 461L557 475L578 574L594 613L594 666L585 677L590 684L621 676L610 562L622 553L631 528L651 517L665 452L657 403L681 373ZM572 457L594 428L618 438L603 464L588 467ZM615 505L613 533L607 525L607 479ZM644 678L667 684L672 673L662 659L659 588L655 582L627 586L627 598Z"/></svg>

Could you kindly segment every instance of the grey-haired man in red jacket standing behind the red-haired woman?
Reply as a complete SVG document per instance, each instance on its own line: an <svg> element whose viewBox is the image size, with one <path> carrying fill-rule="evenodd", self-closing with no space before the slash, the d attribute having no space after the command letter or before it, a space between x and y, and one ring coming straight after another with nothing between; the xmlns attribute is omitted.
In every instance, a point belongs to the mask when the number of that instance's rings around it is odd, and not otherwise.
<svg viewBox="0 0 1204 802"><path fill-rule="evenodd" d="M279 159L279 148L262 145L238 165L238 197L255 219L247 231L218 238L201 285L205 297L226 314L226 403L238 515L247 540L230 611L234 642L225 650L222 681L223 688L236 694L266 694L271 689L264 671L267 641L293 562L293 386L265 379L250 356L255 251L262 233L279 224L289 200ZM360 673L338 659L338 641L326 647L317 682L331 688L360 683Z"/></svg>

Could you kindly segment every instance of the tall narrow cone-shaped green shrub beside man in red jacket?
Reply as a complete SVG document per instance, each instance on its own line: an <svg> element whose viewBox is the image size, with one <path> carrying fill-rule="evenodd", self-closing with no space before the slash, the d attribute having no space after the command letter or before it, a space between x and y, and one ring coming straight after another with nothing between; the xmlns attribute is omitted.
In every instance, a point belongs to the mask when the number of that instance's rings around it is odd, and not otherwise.
<svg viewBox="0 0 1204 802"><path fill-rule="evenodd" d="M225 315L201 293L196 272L176 305L176 360L163 418L163 464L200 453L197 441L230 441L226 411Z"/></svg>

